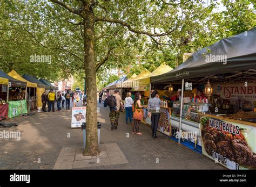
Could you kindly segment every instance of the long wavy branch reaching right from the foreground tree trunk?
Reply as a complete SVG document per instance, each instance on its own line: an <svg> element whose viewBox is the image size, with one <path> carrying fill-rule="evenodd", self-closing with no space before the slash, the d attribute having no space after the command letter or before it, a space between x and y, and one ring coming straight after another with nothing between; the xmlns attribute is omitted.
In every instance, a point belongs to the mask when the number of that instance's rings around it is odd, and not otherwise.
<svg viewBox="0 0 256 187"><path fill-rule="evenodd" d="M118 23L120 25L123 25L123 26L126 26L129 31L131 32L134 32L134 33L137 33L137 34L146 34L146 35L149 35L151 37L164 37L166 35L169 35L170 33L172 33L173 31L175 31L177 29L177 26L175 28L173 28L173 30L169 31L169 32L165 32L165 33L150 33L150 32L146 32L146 31L138 31L138 30L135 30L134 28L131 27L130 24L127 24L125 21L122 21L120 19L111 19L111 18L105 18L105 17L102 17L102 18L96 18L95 19L95 22L97 21L106 21L106 22L109 22L109 23Z"/></svg>

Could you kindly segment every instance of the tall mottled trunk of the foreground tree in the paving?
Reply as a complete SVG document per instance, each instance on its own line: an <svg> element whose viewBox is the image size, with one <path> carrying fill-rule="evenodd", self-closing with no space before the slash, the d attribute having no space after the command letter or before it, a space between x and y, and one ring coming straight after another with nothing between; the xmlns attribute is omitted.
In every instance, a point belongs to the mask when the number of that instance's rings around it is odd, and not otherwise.
<svg viewBox="0 0 256 187"><path fill-rule="evenodd" d="M86 79L86 146L84 156L99 155L97 129L97 89L95 69L95 16L92 10L84 12L84 69Z"/></svg>

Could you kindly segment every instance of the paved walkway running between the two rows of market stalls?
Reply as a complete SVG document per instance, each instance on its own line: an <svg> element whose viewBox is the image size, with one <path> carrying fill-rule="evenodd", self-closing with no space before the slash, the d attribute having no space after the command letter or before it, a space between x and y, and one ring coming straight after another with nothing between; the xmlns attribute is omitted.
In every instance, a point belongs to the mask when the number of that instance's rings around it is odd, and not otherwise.
<svg viewBox="0 0 256 187"><path fill-rule="evenodd" d="M164 134L158 133L153 139L146 125L140 125L143 135L132 134L122 112L118 129L112 131L109 109L103 104L99 107L101 155L81 156L83 133L71 130L71 110L63 108L60 112L36 112L35 116L4 120L18 126L0 131L21 131L21 140L0 139L0 169L224 169Z"/></svg>

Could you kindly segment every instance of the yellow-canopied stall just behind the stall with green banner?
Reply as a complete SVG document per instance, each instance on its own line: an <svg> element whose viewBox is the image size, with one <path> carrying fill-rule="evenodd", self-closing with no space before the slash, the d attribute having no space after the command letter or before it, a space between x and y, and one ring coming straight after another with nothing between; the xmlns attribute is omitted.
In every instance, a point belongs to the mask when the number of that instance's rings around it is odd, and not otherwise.
<svg viewBox="0 0 256 187"><path fill-rule="evenodd" d="M32 83L28 80L25 80L25 78L23 78L22 76L20 76L15 70L11 70L9 73L8 73L9 76L13 77L13 78L16 78L17 80L19 81L23 81L23 82L26 82L26 88L25 90L21 90L22 91L22 94L25 96L23 96L26 100L28 100L28 106L30 106L30 110L32 109L35 109L36 108L36 100L33 99L33 97L31 97L31 95L34 95L36 93L36 88L37 88L37 84L35 83ZM14 91L15 93L15 90L17 89L10 89L10 91ZM25 91L25 93L24 93ZM9 97L9 100L12 100L12 97ZM15 104L12 104L13 106Z"/></svg>

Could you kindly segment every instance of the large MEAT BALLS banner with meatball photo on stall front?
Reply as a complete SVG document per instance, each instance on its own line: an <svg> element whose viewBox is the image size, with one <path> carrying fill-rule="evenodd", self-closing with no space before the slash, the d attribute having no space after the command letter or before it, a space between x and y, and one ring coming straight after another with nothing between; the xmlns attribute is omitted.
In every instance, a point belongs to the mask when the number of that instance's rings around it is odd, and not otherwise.
<svg viewBox="0 0 256 187"><path fill-rule="evenodd" d="M201 118L202 152L228 169L256 169L256 127Z"/></svg>

